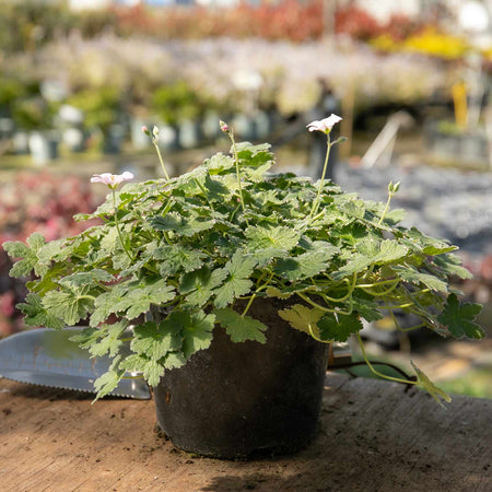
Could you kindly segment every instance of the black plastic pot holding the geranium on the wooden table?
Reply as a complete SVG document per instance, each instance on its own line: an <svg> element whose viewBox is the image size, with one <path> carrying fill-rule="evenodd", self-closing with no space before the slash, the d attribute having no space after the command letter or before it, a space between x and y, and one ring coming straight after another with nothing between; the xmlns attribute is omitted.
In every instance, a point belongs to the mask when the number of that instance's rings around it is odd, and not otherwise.
<svg viewBox="0 0 492 492"><path fill-rule="evenodd" d="M315 436L328 345L292 329L279 303L249 314L265 323L267 343L234 343L215 327L209 349L167 371L154 399L157 422L174 445L218 458L292 453Z"/></svg>

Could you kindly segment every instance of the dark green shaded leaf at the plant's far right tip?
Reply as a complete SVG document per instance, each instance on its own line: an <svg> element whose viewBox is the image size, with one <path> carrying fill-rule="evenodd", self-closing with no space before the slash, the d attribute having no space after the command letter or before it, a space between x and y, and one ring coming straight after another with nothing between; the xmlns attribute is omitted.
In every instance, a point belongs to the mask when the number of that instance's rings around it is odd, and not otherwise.
<svg viewBox="0 0 492 492"><path fill-rule="evenodd" d="M444 306L443 313L437 316L437 321L447 327L455 338L483 338L483 329L475 323L482 306L475 303L459 304L458 297L450 294Z"/></svg>

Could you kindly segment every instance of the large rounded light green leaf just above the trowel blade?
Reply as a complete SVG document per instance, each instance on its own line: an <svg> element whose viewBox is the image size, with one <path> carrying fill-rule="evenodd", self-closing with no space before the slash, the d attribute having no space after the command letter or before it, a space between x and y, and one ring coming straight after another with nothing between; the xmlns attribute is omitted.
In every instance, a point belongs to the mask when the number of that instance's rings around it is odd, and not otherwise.
<svg viewBox="0 0 492 492"><path fill-rule="evenodd" d="M68 326L77 325L92 311L94 301L84 296L84 291L62 290L49 291L43 297L43 307Z"/></svg>

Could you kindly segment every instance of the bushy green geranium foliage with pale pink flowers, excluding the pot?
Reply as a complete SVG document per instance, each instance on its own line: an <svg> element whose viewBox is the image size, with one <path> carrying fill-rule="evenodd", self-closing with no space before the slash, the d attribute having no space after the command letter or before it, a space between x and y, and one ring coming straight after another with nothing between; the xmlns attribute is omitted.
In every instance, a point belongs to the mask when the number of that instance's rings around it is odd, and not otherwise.
<svg viewBox="0 0 492 492"><path fill-rule="evenodd" d="M308 126L326 134L327 161L340 141L330 140L339 120L331 115ZM129 173L95 176L110 194L78 219L97 218L101 225L66 239L35 233L27 244L4 244L22 258L12 276L37 276L20 305L26 323L63 328L87 320L77 340L93 356L113 358L95 382L98 397L128 372L157 385L165 370L207 349L215 327L233 342L263 343L268 327L248 312L266 297L284 300L279 316L319 343L354 336L365 359L362 320L389 313L398 326L396 311L442 336L483 336L473 320L480 306L460 303L449 286L452 276L469 277L456 247L400 226L402 211L390 210L398 184L377 203L325 180L326 163L315 184L270 174L268 144L236 143L225 122L221 129L231 155L213 155L183 176L168 178L160 153L164 179L121 186ZM157 128L143 131L159 151ZM161 320L149 315L156 309ZM415 372L411 384L448 399Z"/></svg>

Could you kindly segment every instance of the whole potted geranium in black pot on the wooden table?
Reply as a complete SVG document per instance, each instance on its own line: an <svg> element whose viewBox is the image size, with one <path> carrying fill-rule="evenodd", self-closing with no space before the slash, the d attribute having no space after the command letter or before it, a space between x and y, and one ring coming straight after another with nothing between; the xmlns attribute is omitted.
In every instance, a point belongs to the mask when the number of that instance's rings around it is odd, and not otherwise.
<svg viewBox="0 0 492 492"><path fill-rule="evenodd" d="M309 125L327 137L331 115ZM154 388L157 421L175 445L225 458L294 450L316 433L332 341L356 338L362 319L397 309L443 336L481 338L477 304L460 304L449 277L469 277L445 241L398 225L386 203L368 202L324 179L268 174L268 144L236 143L194 171L126 184L102 174L99 225L46 243L7 243L22 258L12 276L36 279L20 305L30 325L62 329L113 365L97 397L129 373ZM131 340L124 339L133 325ZM367 359L366 359L367 361ZM370 362L367 361L370 364ZM370 364L376 374L377 371ZM448 396L415 367L436 400ZM393 380L401 380L389 377Z"/></svg>

